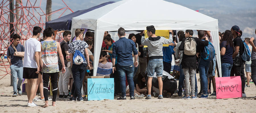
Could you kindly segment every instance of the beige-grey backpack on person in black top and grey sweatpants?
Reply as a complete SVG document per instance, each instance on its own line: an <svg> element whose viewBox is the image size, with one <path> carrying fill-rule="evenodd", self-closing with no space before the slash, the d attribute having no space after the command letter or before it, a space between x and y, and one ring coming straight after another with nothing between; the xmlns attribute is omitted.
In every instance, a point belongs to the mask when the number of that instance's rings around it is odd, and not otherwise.
<svg viewBox="0 0 256 113"><path fill-rule="evenodd" d="M197 43L195 42L195 39L192 37L189 37L185 40L184 42L184 54L185 55L195 55L196 49L197 48Z"/></svg>

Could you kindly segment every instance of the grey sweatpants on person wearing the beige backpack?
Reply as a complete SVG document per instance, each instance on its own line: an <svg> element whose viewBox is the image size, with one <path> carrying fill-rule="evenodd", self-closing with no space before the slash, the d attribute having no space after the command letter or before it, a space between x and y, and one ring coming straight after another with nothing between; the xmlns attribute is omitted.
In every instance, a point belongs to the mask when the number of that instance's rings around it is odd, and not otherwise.
<svg viewBox="0 0 256 113"><path fill-rule="evenodd" d="M189 96L189 87L191 82L191 94L195 94L195 69L193 68L184 68L184 76L185 76L185 88L186 88L186 96ZM189 82L190 78L190 82Z"/></svg>

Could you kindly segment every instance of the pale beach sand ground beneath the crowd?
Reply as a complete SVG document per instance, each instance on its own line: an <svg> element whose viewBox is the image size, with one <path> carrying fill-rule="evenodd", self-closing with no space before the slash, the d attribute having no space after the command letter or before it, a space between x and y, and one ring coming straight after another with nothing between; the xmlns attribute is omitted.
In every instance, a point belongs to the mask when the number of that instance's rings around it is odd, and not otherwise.
<svg viewBox="0 0 256 113"><path fill-rule="evenodd" d="M5 72L0 72L0 75ZM2 78L2 76L0 76ZM57 99L57 106L42 108L43 101L35 102L36 107L27 107L28 98L25 94L17 97L11 97L13 94L13 87L10 86L10 75L0 79L0 112L16 113L16 112L30 112L30 113L84 113L84 112L228 112L228 113L255 113L256 87L250 83L251 87L245 87L246 98L238 99L216 99L210 97L209 99L190 99L183 100L180 97L172 96L164 99L153 98L145 100L144 98L136 98L135 100L101 100L101 101L69 101L65 99ZM199 75L197 74L197 78ZM200 82L198 90L200 90ZM213 91L213 89L212 89ZM40 96L39 96L40 97ZM58 98L58 97L57 97Z"/></svg>

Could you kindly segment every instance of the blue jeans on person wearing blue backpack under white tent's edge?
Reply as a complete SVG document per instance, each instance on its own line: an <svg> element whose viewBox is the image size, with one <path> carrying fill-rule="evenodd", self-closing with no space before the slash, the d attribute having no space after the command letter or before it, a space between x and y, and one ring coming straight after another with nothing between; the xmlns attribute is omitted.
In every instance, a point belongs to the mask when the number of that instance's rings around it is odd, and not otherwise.
<svg viewBox="0 0 256 113"><path fill-rule="evenodd" d="M207 89L208 89L208 79L207 79L207 73L209 69L209 61L205 61L203 58L200 59L199 64L198 64L198 69L199 69L199 74L201 78L201 83L202 83L202 88L203 89L203 94L207 94Z"/></svg>

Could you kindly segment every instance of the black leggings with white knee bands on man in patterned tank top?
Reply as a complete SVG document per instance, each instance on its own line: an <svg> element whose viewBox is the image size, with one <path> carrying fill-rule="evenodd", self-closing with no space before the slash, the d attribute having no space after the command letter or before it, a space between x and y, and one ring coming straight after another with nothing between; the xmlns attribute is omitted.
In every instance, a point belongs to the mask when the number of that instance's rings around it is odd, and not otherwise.
<svg viewBox="0 0 256 113"><path fill-rule="evenodd" d="M44 84L44 99L45 101L48 101L48 83L49 83L49 77L51 77L51 84L53 87L52 90L52 101L56 101L57 98L57 93L58 93L58 85L57 85L57 80L58 80L58 75L59 72L56 73L43 73L43 84Z"/></svg>

